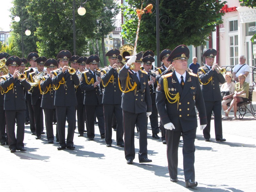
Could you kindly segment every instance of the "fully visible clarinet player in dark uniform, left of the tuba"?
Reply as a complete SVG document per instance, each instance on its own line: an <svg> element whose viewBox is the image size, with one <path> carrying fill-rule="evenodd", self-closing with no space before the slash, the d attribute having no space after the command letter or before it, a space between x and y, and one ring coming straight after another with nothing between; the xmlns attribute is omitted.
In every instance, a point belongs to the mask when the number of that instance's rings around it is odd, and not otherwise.
<svg viewBox="0 0 256 192"><path fill-rule="evenodd" d="M85 91L84 106L86 111L86 130L89 140L94 140L94 112L96 112L99 121L100 138L105 139L104 113L102 105L102 84L100 71L97 71L100 58L98 55L91 55L86 60L89 64L89 70L82 73L80 86ZM95 70L96 69L96 70ZM96 79L97 78L97 79Z"/></svg>

